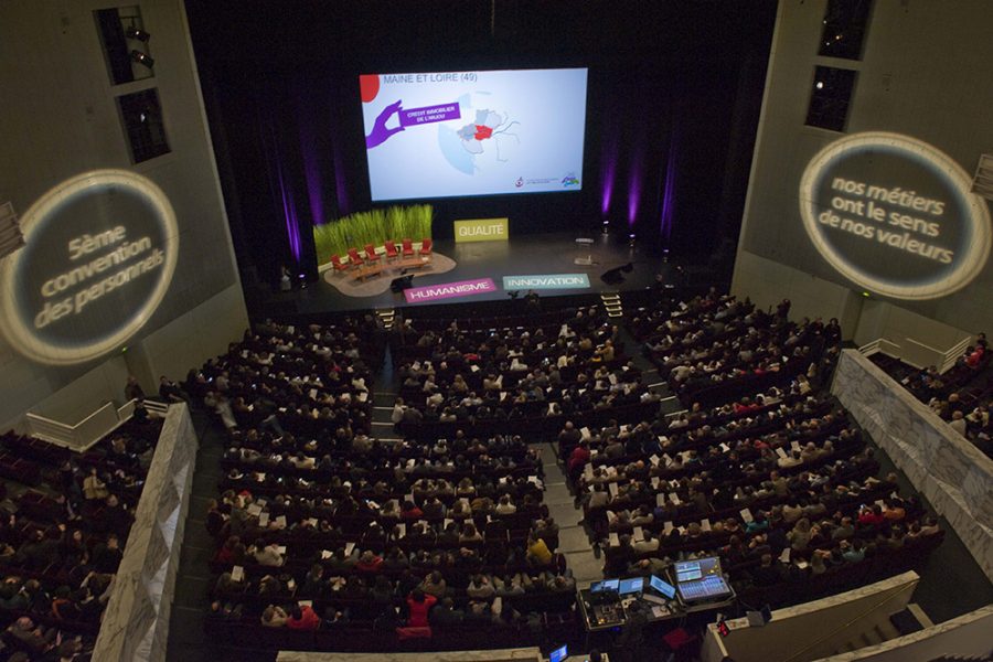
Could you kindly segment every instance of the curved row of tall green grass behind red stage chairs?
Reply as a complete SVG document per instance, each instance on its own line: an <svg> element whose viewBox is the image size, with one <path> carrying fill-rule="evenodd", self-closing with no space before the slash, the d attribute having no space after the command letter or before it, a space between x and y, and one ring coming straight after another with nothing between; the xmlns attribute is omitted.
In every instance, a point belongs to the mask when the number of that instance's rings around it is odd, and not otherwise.
<svg viewBox="0 0 993 662"><path fill-rule="evenodd" d="M332 255L344 257L349 248L362 249L366 244L382 246L393 239L420 242L431 236L434 207L429 204L392 206L385 210L355 212L313 228L313 244L318 265L325 265Z"/></svg>

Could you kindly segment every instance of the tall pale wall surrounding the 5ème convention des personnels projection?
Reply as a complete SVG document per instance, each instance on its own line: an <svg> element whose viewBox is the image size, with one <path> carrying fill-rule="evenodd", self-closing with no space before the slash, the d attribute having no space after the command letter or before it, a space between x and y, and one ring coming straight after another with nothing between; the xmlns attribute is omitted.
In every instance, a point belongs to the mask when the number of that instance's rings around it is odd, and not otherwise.
<svg viewBox="0 0 993 662"><path fill-rule="evenodd" d="M121 402L128 372L146 391L182 377L241 335L247 323L182 0L138 4L154 76L111 86L93 11L96 0L0 3L0 201L19 213L81 172L120 168L151 179L175 210L175 275L157 311L100 359L64 367L35 363L0 341L0 421L38 409L75 423ZM132 164L116 97L154 87L171 152Z"/></svg>

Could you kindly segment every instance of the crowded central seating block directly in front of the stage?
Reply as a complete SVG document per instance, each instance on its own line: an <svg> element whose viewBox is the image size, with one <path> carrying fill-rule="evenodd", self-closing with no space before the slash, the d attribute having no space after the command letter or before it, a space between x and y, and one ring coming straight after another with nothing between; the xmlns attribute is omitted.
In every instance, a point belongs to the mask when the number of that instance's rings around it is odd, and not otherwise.
<svg viewBox="0 0 993 662"><path fill-rule="evenodd" d="M420 439L467 423L477 434L554 434L565 419L595 424L654 410L617 327L591 307L527 318L406 320L394 361L397 423Z"/></svg>

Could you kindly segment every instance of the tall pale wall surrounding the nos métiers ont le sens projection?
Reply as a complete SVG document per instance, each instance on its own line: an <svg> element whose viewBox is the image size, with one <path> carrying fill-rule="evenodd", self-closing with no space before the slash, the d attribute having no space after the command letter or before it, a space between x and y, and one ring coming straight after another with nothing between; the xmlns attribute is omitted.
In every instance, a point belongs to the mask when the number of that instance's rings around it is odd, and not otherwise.
<svg viewBox="0 0 993 662"><path fill-rule="evenodd" d="M800 177L844 134L804 126L814 66L857 73L847 134L885 130L930 142L972 172L993 151L993 3L877 0L862 61L821 57L826 0L780 2L733 290L761 305L790 297L799 316L837 317L858 343L911 338L952 346L993 327L993 268L943 299L869 298L836 275L801 226Z"/></svg>

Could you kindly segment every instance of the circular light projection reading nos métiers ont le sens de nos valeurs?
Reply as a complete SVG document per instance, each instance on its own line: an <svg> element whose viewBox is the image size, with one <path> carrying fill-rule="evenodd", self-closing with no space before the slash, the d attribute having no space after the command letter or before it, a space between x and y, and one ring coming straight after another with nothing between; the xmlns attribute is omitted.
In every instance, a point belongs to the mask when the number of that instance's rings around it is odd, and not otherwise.
<svg viewBox="0 0 993 662"><path fill-rule="evenodd" d="M897 299L946 297L979 276L990 210L971 178L921 140L855 134L821 150L800 182L803 227L857 287Z"/></svg>

